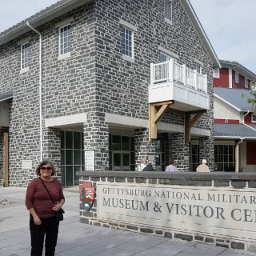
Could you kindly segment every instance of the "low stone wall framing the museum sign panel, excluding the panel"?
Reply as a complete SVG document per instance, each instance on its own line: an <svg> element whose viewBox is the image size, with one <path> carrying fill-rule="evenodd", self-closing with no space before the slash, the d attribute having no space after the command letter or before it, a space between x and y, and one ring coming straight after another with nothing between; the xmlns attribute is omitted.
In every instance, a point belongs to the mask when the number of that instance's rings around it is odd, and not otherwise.
<svg viewBox="0 0 256 256"><path fill-rule="evenodd" d="M90 172L91 173L91 172ZM113 174L113 172L94 172L94 174L90 174L88 172L83 172L81 174L82 182L91 182L92 186L96 189L96 198L94 199L94 203L89 212L84 210L84 206L82 202L80 202L80 222L94 225L94 226L102 226L111 229L118 230L128 230L132 232L144 233L144 234L153 234L157 236L162 236L165 238L185 240L188 242L203 242L206 244L211 244L215 246L222 246L226 248L233 248L238 250L249 250L255 252L255 243L254 241L246 241L241 238L230 238L229 236L218 237L218 235L207 235L207 234L199 234L197 232L185 232L172 230L170 228L161 228L158 226L143 226L137 223L132 222L120 222L112 220L102 220L98 218L97 215L97 182L106 182L107 185L110 184L118 184L120 182L125 182L127 186L133 184L136 187L141 186L142 184L147 184L152 186L153 184L158 187L162 184L168 186L190 186L191 189L197 186L201 188L206 186L207 188L212 187L226 187L226 188L236 188L242 190L243 188L254 189L255 188L255 175L234 175L234 174L217 174L217 173L182 173L182 174L170 174L165 173L161 175L159 178L158 173L150 173L144 175L143 172L118 172L118 174Z"/></svg>

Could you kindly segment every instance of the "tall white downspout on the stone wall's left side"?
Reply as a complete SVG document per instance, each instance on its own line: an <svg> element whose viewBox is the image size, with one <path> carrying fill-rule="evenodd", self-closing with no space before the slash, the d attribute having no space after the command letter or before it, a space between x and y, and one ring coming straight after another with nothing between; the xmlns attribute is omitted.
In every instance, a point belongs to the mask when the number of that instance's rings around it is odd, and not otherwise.
<svg viewBox="0 0 256 256"><path fill-rule="evenodd" d="M42 162L42 34L35 30L33 26L30 26L29 22L26 25L39 34L39 115L40 115L40 162Z"/></svg>

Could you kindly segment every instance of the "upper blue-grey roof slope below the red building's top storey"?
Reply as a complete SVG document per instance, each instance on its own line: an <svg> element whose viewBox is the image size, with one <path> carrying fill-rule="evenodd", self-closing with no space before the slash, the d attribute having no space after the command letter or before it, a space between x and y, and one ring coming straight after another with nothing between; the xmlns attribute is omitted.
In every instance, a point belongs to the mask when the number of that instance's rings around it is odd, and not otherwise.
<svg viewBox="0 0 256 256"><path fill-rule="evenodd" d="M246 99L252 97L250 90L214 87L214 94L230 103L230 105L235 106L240 111L252 111L252 105ZM244 98L242 98L242 94L245 95Z"/></svg>

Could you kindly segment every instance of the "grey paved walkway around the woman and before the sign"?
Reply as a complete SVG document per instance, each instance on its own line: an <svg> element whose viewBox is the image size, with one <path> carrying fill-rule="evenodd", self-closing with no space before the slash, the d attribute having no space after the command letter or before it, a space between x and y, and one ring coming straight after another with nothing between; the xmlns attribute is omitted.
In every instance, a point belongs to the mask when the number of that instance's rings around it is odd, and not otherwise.
<svg viewBox="0 0 256 256"><path fill-rule="evenodd" d="M0 256L29 256L29 214L26 210L25 188L0 187ZM182 242L150 234L138 234L90 226L79 222L78 187L64 189L65 220L60 224L56 255L61 256L242 256L254 255L243 250L230 250L203 243Z"/></svg>

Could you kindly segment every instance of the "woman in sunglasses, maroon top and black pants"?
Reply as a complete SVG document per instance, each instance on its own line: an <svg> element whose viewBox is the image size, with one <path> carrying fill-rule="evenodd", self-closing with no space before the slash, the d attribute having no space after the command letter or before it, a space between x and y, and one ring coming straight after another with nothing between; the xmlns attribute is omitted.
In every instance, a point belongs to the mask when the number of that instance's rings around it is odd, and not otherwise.
<svg viewBox="0 0 256 256"><path fill-rule="evenodd" d="M45 242L46 256L54 256L58 239L59 221L54 217L65 202L62 185L55 174L54 165L50 160L43 160L36 169L39 178L34 178L26 190L26 208L30 211L31 256L41 256ZM49 193L53 198L54 204ZM46 236L46 239L45 239Z"/></svg>

